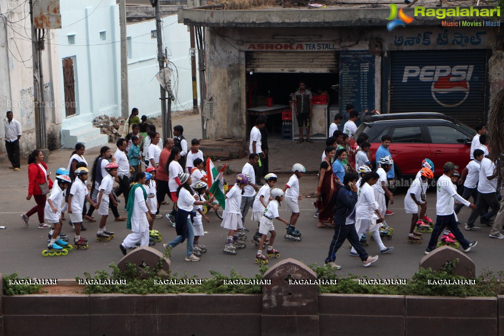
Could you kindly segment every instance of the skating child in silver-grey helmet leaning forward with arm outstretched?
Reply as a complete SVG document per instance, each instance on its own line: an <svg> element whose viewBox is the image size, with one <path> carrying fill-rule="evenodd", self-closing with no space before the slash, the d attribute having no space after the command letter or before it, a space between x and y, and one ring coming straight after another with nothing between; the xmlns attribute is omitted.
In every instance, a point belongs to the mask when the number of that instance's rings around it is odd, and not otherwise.
<svg viewBox="0 0 504 336"><path fill-rule="evenodd" d="M263 255L263 247L264 247L264 243L266 241L266 237L268 236L268 231L271 234L270 246L268 246L268 250L266 251L266 254L268 255L268 259L271 258L273 255L276 256L277 258L280 257L280 251L273 248L273 243L275 242L275 237L277 235L277 233L275 231L275 227L273 226L273 218L279 220L280 222L284 222L285 225L289 225L289 222L282 219L280 217L280 215L278 214L278 208L280 207L280 202L284 199L283 190L279 189L279 188L272 189L271 190L271 198L273 198L273 199L270 201L270 203L266 207L266 210L265 210L263 217L261 218L261 221L259 224L259 233L262 236L261 236L261 241L259 242L259 250L257 251L257 254L256 254L256 263L261 263L262 265L264 265L265 263L268 263L268 260Z"/></svg>

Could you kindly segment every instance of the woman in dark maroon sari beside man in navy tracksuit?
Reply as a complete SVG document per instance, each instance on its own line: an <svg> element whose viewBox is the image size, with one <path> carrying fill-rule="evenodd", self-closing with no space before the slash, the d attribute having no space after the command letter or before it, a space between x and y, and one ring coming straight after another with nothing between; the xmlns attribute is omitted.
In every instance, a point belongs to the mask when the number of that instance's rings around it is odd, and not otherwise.
<svg viewBox="0 0 504 336"><path fill-rule="evenodd" d="M333 195L337 190L337 182L333 175L331 160L336 153L333 146L326 147L326 157L320 165L320 178L317 187L317 209L319 209L318 228L334 227L333 213L334 203Z"/></svg>

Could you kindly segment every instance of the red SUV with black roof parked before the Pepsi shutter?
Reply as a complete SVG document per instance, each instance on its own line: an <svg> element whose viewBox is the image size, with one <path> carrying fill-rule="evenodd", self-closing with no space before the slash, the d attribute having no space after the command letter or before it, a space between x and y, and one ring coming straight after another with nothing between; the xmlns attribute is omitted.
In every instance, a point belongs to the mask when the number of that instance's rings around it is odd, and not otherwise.
<svg viewBox="0 0 504 336"><path fill-rule="evenodd" d="M392 137L389 151L396 179L415 176L425 158L434 163L436 176L443 175L443 165L448 161L458 165L462 172L470 160L471 142L476 135L471 127L442 113L390 113L364 117L361 122L350 140L349 162L355 166L355 140L365 132L371 143L374 167L376 150L382 144L382 136L388 134Z"/></svg>

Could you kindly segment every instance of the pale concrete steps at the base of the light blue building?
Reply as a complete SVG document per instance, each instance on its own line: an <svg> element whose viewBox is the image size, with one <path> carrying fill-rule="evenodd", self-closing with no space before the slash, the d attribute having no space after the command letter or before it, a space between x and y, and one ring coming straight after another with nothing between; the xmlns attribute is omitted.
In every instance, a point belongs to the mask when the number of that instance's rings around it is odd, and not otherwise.
<svg viewBox="0 0 504 336"><path fill-rule="evenodd" d="M61 129L63 148L75 148L77 143L84 144L86 148L105 146L108 144L108 136L101 134L100 128L93 127L92 122L80 122Z"/></svg>

